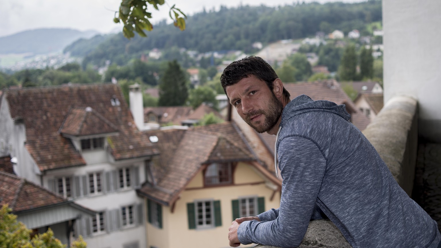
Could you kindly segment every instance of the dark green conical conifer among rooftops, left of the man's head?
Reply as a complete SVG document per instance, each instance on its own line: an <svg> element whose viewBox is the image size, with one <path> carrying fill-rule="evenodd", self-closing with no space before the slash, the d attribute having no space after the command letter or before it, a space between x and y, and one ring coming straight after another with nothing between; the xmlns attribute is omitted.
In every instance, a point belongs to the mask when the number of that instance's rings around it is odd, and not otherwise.
<svg viewBox="0 0 441 248"><path fill-rule="evenodd" d="M188 97L187 79L176 60L168 62L159 84L159 106L182 106Z"/></svg>

